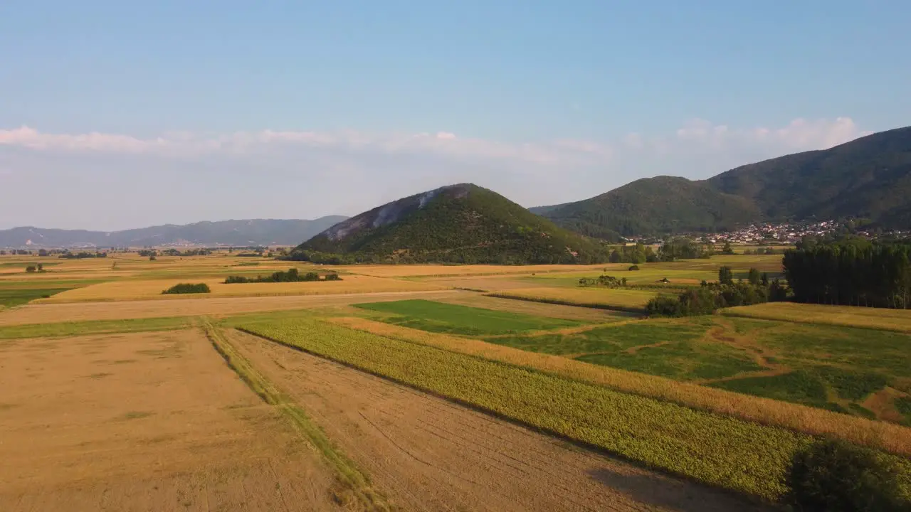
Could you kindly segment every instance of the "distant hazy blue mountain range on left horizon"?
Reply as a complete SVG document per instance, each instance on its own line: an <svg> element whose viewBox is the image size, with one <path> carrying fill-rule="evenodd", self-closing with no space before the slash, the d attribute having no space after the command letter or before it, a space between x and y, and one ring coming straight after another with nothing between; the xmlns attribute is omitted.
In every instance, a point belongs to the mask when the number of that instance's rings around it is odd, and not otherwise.
<svg viewBox="0 0 911 512"><path fill-rule="evenodd" d="M346 217L331 215L315 220L220 220L136 230L88 231L13 228L0 230L0 247L141 247L147 245L297 245Z"/></svg>

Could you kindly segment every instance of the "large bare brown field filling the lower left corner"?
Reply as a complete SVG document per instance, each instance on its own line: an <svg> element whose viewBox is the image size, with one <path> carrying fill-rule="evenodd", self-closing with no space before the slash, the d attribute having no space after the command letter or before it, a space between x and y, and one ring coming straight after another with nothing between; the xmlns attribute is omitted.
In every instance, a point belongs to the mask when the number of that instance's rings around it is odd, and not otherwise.
<svg viewBox="0 0 911 512"><path fill-rule="evenodd" d="M328 510L318 460L197 331L0 343L0 510Z"/></svg>

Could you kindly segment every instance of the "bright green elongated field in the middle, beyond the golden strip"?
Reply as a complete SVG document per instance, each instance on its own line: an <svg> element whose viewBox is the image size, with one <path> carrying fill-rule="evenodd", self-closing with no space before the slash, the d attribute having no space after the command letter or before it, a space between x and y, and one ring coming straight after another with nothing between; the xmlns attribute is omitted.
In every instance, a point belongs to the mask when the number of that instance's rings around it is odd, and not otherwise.
<svg viewBox="0 0 911 512"><path fill-rule="evenodd" d="M574 320L423 300L368 302L354 304L354 306L370 312L384 313L377 319L385 323L413 327L431 333L474 335L524 333L582 324Z"/></svg>

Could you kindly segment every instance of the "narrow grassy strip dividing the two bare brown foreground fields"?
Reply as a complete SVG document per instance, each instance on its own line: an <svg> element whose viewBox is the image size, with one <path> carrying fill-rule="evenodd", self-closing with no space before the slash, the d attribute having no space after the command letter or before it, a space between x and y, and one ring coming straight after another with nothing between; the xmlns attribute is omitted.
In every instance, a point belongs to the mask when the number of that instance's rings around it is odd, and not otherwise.
<svg viewBox="0 0 911 512"><path fill-rule="evenodd" d="M307 441L322 456L323 461L333 469L338 488L334 489L336 501L344 506L355 502L365 510L390 510L391 507L371 486L370 478L359 469L354 462L345 456L332 441L322 432L322 429L313 424L310 417L301 406L295 404L291 397L284 394L272 384L263 374L241 355L231 343L221 335L208 319L203 320L203 328L215 350L221 354L241 380L250 386L253 393L258 394L262 401L275 407L281 415L287 417L294 428L300 432Z"/></svg>

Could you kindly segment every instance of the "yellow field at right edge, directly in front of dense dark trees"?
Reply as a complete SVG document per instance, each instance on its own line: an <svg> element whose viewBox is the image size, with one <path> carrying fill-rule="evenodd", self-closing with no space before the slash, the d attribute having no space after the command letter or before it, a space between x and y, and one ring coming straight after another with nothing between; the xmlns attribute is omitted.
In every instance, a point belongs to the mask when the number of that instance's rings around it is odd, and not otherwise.
<svg viewBox="0 0 911 512"><path fill-rule="evenodd" d="M763 320L823 323L911 333L911 310L799 304L796 302L766 302L753 306L727 308L722 310L722 314Z"/></svg>

